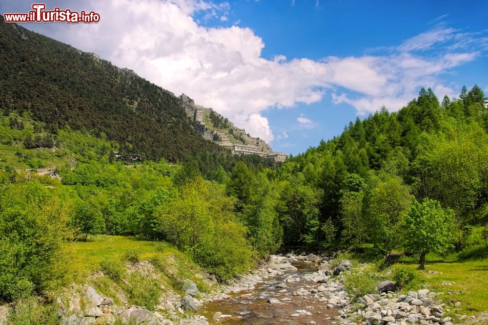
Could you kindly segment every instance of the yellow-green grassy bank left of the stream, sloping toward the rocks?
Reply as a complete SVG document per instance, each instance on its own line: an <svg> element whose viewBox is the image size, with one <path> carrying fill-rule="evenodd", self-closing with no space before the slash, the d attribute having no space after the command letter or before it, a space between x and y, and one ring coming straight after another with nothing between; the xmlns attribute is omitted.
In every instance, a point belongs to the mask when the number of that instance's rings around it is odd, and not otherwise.
<svg viewBox="0 0 488 325"><path fill-rule="evenodd" d="M138 260L153 262L156 273L160 276L158 282L178 293L183 293L182 282L189 279L197 284L200 291L208 291L208 286L201 277L197 277L202 270L187 255L166 242L140 240L135 237L99 235L89 237L87 242L72 242L66 245L71 257L67 264L68 279L75 283L88 283L102 293L114 297L117 290L127 291L129 296L134 289L126 287L122 278L134 282L137 277L130 277L125 273L127 256L137 252ZM119 278L104 276L93 278L91 275L102 269L110 261L111 264L121 265L122 276ZM114 267L115 267L114 266ZM134 281L132 281L134 280ZM137 281L136 281L137 282ZM137 295L140 296L140 295ZM141 299L150 300L141 296Z"/></svg>

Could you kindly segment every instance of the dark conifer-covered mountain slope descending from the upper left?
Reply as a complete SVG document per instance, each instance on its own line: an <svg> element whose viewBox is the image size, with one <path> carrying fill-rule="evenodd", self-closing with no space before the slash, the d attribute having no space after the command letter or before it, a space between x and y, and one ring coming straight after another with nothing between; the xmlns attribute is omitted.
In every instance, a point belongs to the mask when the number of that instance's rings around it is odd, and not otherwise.
<svg viewBox="0 0 488 325"><path fill-rule="evenodd" d="M148 159L225 152L199 134L171 92L3 17L0 109L31 111L51 131L69 125L104 133L122 150Z"/></svg>

